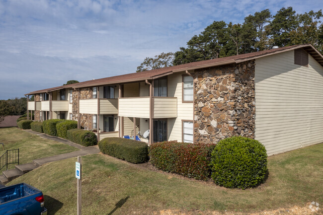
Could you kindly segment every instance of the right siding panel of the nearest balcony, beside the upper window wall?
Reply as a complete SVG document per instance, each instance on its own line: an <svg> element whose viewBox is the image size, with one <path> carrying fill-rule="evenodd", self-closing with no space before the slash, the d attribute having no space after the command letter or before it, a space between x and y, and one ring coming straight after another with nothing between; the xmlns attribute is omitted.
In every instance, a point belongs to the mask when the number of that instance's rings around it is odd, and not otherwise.
<svg viewBox="0 0 323 215"><path fill-rule="evenodd" d="M177 117L177 98L154 97L154 118Z"/></svg>

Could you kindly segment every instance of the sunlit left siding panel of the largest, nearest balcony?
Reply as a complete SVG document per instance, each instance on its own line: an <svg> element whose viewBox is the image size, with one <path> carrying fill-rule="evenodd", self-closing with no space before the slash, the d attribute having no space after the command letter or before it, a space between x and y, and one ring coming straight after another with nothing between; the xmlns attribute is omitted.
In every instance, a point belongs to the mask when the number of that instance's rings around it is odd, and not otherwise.
<svg viewBox="0 0 323 215"><path fill-rule="evenodd" d="M119 98L119 116L149 118L149 97Z"/></svg>

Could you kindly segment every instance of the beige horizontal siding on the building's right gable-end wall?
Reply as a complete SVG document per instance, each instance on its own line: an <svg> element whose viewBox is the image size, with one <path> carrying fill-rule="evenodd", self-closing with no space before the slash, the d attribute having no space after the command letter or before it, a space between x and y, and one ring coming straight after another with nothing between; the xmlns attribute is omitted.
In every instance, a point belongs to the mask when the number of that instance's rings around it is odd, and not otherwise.
<svg viewBox="0 0 323 215"><path fill-rule="evenodd" d="M294 51L256 59L255 139L268 155L323 142L323 68L294 65Z"/></svg>

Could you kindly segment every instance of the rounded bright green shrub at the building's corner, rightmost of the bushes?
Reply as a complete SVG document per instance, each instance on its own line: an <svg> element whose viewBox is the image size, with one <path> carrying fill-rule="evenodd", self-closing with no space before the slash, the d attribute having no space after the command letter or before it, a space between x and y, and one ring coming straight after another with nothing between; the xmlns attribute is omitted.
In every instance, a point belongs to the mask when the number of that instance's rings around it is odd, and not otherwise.
<svg viewBox="0 0 323 215"><path fill-rule="evenodd" d="M245 189L263 182L267 173L267 152L256 140L231 137L212 151L212 179L227 188Z"/></svg>

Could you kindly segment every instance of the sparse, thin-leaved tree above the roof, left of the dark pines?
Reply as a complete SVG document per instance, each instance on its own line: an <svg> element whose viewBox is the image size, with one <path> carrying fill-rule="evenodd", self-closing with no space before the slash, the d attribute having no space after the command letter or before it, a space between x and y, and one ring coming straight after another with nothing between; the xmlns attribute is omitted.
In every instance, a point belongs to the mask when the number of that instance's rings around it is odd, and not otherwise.
<svg viewBox="0 0 323 215"><path fill-rule="evenodd" d="M163 67L173 66L174 53L161 53L156 55L154 58L145 58L144 62L137 67L137 72L147 71L147 70L156 70Z"/></svg>

